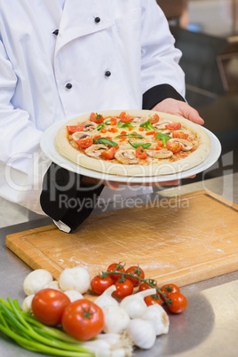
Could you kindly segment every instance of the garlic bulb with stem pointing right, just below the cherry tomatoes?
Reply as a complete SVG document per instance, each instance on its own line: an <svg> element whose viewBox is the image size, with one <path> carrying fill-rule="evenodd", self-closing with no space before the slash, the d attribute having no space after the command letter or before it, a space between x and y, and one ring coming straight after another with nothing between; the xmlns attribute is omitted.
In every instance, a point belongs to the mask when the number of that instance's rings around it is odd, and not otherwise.
<svg viewBox="0 0 238 357"><path fill-rule="evenodd" d="M123 298L120 305L129 314L131 319L136 319L147 309L147 304L145 303L144 298L154 294L156 294L155 289L143 290Z"/></svg>

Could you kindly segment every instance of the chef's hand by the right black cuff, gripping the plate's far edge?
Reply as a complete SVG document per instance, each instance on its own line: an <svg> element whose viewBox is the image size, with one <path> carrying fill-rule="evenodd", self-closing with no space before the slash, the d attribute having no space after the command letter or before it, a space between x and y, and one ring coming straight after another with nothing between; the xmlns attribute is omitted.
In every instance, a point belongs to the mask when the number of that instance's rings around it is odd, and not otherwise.
<svg viewBox="0 0 238 357"><path fill-rule="evenodd" d="M204 123L203 119L194 109L194 107L190 107L187 103L181 100L171 98L163 99L160 103L156 104L152 110L155 110L156 112L183 116L184 118L191 120L191 122L200 125Z"/></svg>

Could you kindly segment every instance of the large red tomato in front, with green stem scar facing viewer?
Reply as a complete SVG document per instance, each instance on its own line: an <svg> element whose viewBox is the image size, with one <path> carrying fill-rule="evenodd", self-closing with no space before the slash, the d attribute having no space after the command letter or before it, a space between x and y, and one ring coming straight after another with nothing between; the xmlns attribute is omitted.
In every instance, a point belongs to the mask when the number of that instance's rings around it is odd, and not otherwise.
<svg viewBox="0 0 238 357"><path fill-rule="evenodd" d="M103 325L101 308L86 298L67 305L62 317L63 329L80 341L87 341L99 335Z"/></svg>

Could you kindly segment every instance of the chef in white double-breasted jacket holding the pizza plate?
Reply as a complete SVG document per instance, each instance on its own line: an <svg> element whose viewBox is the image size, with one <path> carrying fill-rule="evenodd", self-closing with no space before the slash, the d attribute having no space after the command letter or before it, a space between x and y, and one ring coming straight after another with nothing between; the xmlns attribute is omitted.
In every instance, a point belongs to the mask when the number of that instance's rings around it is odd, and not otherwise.
<svg viewBox="0 0 238 357"><path fill-rule="evenodd" d="M62 187L67 200L113 194L44 155L40 139L53 123L144 108L202 124L184 99L180 57L155 0L0 0L0 224L10 207L11 216L47 214L69 232L92 208L59 207Z"/></svg>

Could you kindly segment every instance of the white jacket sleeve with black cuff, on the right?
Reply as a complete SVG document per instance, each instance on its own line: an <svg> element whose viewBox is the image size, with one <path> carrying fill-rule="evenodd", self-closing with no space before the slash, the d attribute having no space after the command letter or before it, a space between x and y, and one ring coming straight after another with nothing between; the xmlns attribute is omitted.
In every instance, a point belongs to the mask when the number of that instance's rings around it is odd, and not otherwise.
<svg viewBox="0 0 238 357"><path fill-rule="evenodd" d="M184 100L185 75L178 65L168 21L155 0L142 0L141 83L143 108L151 109L165 98Z"/></svg>

